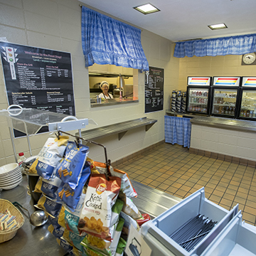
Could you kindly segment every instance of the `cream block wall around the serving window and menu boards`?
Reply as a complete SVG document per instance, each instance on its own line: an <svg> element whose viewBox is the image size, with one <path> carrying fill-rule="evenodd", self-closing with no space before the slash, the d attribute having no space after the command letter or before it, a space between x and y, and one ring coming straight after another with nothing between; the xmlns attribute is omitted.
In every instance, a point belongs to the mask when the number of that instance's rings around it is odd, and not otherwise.
<svg viewBox="0 0 256 256"><path fill-rule="evenodd" d="M139 95L139 103L90 107L88 68L82 55L80 34L80 2L77 0L0 0L0 36L10 43L26 46L61 50L71 53L75 108L78 117L94 119L99 126L149 117L157 119L148 132L144 128L127 132L119 141L117 135L100 139L105 144L108 158L122 159L164 139L164 114L169 109L172 90L178 88L178 58L174 58L174 44L149 31L142 31L142 46L149 65L164 68L164 111L144 114L144 73L134 77ZM90 8L90 6L88 6ZM0 110L8 107L4 85L4 75L0 67ZM14 162L9 129L5 117L0 117L0 166ZM95 126L89 125L86 129ZM48 134L31 137L33 155L41 150ZM26 138L15 139L16 151L29 156ZM90 157L105 161L102 149L90 146Z"/></svg>

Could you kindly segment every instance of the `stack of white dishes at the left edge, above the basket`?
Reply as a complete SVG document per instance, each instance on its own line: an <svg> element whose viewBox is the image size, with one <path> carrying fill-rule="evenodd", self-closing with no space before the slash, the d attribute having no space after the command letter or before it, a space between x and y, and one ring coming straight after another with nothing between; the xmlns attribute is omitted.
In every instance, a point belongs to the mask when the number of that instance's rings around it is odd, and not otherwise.
<svg viewBox="0 0 256 256"><path fill-rule="evenodd" d="M18 164L6 164L0 167L0 188L15 188L22 181L21 169Z"/></svg>

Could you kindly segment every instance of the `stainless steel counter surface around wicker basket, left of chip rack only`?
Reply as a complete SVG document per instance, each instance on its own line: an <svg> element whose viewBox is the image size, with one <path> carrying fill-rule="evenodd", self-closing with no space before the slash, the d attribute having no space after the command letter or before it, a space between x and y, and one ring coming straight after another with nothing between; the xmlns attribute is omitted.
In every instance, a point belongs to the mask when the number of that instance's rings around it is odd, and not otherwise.
<svg viewBox="0 0 256 256"><path fill-rule="evenodd" d="M0 198L9 200L11 203L14 201L20 203L31 214L34 208L31 196L28 196L26 186L28 186L28 178L27 176L23 176L23 181L20 185L8 191L1 191ZM21 211L21 213L23 212ZM48 223L42 227L34 227L29 223L26 210L24 210L23 217L25 223L22 228L18 229L15 237L9 241L0 243L1 255L63 256L66 254L66 251L58 245L55 237L47 230Z"/></svg>

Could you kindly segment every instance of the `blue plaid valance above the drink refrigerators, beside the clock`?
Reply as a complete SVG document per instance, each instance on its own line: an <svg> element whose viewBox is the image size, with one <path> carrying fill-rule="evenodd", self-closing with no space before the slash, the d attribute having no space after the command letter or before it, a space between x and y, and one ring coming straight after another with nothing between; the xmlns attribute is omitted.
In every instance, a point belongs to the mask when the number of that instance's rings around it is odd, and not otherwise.
<svg viewBox="0 0 256 256"><path fill-rule="evenodd" d="M178 42L174 48L174 57L217 56L228 54L245 54L256 51L256 34L229 36Z"/></svg>

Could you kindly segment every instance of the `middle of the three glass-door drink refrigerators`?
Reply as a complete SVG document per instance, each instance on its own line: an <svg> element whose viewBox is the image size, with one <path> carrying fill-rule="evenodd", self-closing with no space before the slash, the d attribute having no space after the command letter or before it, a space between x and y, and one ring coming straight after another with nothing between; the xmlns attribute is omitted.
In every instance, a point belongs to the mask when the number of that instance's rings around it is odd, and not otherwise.
<svg viewBox="0 0 256 256"><path fill-rule="evenodd" d="M240 77L213 77L210 114L217 117L237 117L240 81Z"/></svg>

